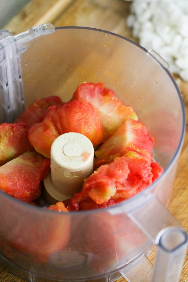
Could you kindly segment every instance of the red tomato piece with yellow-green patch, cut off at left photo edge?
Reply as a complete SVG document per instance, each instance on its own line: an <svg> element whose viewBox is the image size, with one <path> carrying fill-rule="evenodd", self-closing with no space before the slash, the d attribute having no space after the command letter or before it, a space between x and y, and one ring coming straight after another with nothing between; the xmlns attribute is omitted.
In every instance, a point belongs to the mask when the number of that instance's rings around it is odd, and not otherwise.
<svg viewBox="0 0 188 282"><path fill-rule="evenodd" d="M33 150L27 135L28 126L24 123L0 124L0 166Z"/></svg>

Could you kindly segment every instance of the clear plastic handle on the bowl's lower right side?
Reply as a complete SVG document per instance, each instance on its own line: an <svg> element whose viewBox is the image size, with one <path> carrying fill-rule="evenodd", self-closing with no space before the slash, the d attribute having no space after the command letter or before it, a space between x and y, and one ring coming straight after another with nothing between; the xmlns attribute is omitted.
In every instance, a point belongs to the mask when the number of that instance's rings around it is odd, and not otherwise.
<svg viewBox="0 0 188 282"><path fill-rule="evenodd" d="M155 195L127 214L157 245L157 254L154 267L143 255L121 274L128 282L178 282L187 250L187 233Z"/></svg>

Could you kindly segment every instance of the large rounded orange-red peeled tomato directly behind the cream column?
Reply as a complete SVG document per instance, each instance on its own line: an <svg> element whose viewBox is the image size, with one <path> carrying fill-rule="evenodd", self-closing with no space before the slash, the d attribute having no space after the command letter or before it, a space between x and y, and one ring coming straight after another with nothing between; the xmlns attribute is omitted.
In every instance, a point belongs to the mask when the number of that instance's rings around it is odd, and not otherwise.
<svg viewBox="0 0 188 282"><path fill-rule="evenodd" d="M71 101L48 108L43 121L29 129L29 141L37 152L50 158L53 141L61 134L78 132L90 139L93 146L102 141L98 111L87 102Z"/></svg>

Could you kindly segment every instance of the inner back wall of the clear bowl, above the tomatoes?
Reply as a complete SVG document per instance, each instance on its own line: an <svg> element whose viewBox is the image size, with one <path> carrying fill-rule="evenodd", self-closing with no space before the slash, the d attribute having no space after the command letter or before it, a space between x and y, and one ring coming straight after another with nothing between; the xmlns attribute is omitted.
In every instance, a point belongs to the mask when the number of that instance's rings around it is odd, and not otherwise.
<svg viewBox="0 0 188 282"><path fill-rule="evenodd" d="M86 29L57 29L27 44L21 57L26 106L49 95L68 101L78 84L103 81L133 105L155 139L161 165L169 164L182 132L181 104L171 78L150 54L120 37Z"/></svg>

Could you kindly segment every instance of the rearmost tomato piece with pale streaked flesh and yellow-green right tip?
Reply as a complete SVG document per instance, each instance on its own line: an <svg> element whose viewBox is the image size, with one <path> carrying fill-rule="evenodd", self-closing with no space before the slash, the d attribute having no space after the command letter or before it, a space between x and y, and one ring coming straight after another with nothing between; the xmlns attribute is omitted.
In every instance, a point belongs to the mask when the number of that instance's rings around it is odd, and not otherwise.
<svg viewBox="0 0 188 282"><path fill-rule="evenodd" d="M128 118L138 120L131 106L126 106L115 93L104 87L102 82L80 84L72 100L87 101L98 111L103 129L103 142L106 141Z"/></svg>

